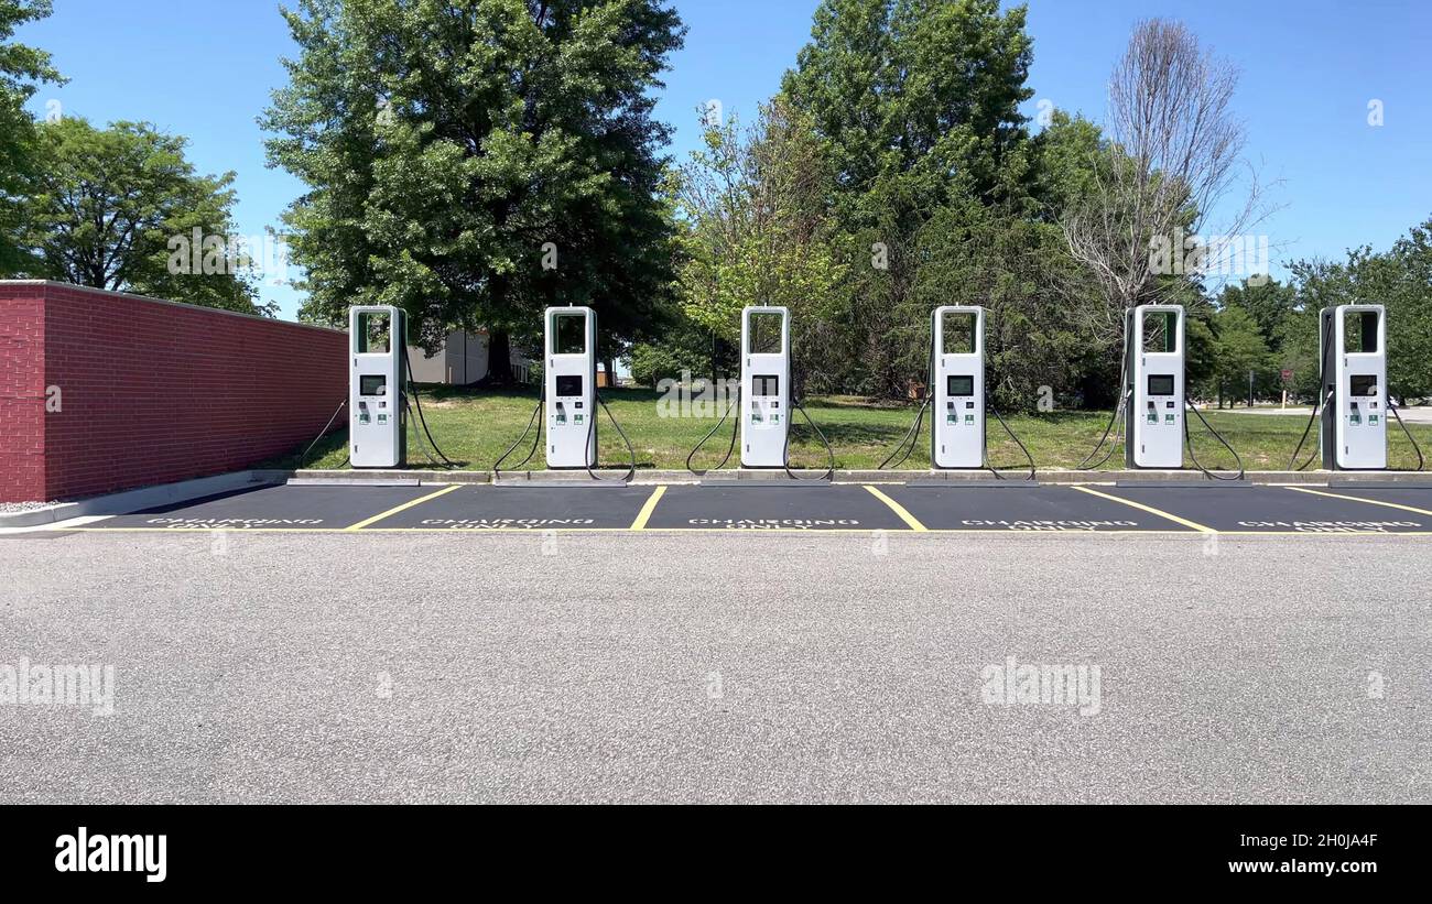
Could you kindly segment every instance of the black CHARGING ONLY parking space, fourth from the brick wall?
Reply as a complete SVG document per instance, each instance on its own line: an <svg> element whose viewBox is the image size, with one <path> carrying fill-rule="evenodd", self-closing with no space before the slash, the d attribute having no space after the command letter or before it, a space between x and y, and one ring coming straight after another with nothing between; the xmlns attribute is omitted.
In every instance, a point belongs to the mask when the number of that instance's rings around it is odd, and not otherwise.
<svg viewBox="0 0 1432 904"><path fill-rule="evenodd" d="M1199 526L1075 486L891 486L885 492L931 531L1093 534L1197 532Z"/></svg>

